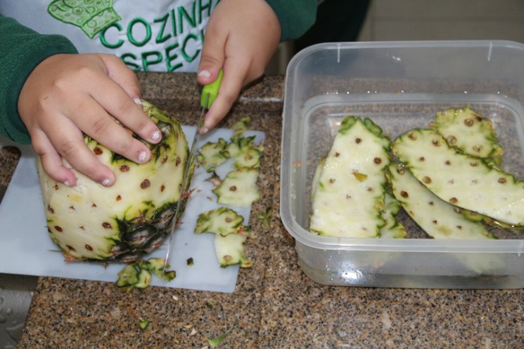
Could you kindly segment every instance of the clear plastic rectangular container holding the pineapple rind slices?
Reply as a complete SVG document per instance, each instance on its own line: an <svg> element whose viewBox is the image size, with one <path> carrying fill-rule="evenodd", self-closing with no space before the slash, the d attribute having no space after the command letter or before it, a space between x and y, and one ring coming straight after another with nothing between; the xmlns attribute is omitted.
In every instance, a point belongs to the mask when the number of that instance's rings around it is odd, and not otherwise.
<svg viewBox="0 0 524 349"><path fill-rule="evenodd" d="M309 278L365 287L524 287L524 231L496 240L436 240L406 218L409 239L308 231L311 184L346 115L394 139L435 113L469 105L491 119L502 168L524 179L524 45L509 41L348 42L307 47L287 68L280 215Z"/></svg>

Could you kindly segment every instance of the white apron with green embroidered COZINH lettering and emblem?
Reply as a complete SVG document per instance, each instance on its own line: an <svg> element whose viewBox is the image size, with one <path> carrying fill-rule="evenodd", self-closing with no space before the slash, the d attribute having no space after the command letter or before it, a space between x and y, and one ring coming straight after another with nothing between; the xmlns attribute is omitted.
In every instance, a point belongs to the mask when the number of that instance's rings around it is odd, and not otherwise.
<svg viewBox="0 0 524 349"><path fill-rule="evenodd" d="M80 53L113 54L134 70L196 71L219 0L1 0L0 13Z"/></svg>

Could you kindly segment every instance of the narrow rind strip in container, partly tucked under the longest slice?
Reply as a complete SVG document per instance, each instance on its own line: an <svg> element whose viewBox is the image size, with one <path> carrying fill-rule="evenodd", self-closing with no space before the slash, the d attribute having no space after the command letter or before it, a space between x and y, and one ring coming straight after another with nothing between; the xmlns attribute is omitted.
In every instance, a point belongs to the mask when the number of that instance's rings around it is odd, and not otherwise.
<svg viewBox="0 0 524 349"><path fill-rule="evenodd" d="M395 198L433 239L494 239L482 223L466 219L454 205L431 193L404 166L390 164L387 176Z"/></svg>

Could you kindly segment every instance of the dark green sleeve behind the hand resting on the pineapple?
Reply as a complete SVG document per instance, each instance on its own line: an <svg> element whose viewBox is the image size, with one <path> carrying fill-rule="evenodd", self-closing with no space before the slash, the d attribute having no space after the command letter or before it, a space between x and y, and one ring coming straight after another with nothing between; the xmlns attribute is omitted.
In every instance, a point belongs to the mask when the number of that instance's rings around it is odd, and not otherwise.
<svg viewBox="0 0 524 349"><path fill-rule="evenodd" d="M18 114L18 96L29 74L44 59L77 53L62 35L42 35L0 14L0 134L21 144L30 137Z"/></svg>

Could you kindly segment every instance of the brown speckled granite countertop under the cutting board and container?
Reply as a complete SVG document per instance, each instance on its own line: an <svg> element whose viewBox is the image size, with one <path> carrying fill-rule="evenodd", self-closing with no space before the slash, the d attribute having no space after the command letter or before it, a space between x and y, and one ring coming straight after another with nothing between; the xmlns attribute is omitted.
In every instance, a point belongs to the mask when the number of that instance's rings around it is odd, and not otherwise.
<svg viewBox="0 0 524 349"><path fill-rule="evenodd" d="M145 98L195 122L192 74L139 79ZM220 348L523 348L523 290L331 287L302 273L278 217L282 96L283 77L266 76L220 125L251 115L251 128L267 135L261 200L249 222L254 266L240 270L232 294L163 287L126 293L110 282L42 277L18 348L205 348L206 338L233 324ZM256 219L267 207L269 229ZM145 330L141 318L151 321Z"/></svg>

